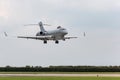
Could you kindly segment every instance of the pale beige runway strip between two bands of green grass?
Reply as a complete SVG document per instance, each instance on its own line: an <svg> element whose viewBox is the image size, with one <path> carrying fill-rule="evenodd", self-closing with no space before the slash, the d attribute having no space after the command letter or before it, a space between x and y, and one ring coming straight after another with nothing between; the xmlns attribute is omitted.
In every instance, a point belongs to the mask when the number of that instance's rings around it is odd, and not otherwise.
<svg viewBox="0 0 120 80"><path fill-rule="evenodd" d="M0 77L10 76L51 76L51 77L120 77L120 74L0 74Z"/></svg>

